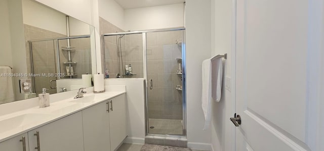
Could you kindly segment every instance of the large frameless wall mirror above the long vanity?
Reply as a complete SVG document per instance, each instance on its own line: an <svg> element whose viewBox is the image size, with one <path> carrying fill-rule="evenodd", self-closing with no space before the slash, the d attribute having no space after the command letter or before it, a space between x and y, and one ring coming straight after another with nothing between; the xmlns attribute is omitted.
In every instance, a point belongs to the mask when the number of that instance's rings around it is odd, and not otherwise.
<svg viewBox="0 0 324 151"><path fill-rule="evenodd" d="M33 0L0 1L0 104L91 86L94 27Z"/></svg>

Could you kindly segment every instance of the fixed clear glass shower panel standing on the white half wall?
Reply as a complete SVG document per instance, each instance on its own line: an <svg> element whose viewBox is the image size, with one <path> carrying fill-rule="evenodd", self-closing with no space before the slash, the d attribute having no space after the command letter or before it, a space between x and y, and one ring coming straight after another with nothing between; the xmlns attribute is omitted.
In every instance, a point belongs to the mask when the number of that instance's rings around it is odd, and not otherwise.
<svg viewBox="0 0 324 151"><path fill-rule="evenodd" d="M144 77L142 33L104 36L103 42L104 71L109 73L109 78ZM126 66L131 67L132 71L127 70Z"/></svg>

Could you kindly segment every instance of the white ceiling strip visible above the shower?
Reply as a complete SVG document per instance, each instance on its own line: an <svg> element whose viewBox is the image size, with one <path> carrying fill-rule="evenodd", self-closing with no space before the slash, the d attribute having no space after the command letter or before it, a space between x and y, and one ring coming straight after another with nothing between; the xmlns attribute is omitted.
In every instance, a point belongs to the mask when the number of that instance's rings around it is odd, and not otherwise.
<svg viewBox="0 0 324 151"><path fill-rule="evenodd" d="M185 0L115 0L124 9L183 3Z"/></svg>

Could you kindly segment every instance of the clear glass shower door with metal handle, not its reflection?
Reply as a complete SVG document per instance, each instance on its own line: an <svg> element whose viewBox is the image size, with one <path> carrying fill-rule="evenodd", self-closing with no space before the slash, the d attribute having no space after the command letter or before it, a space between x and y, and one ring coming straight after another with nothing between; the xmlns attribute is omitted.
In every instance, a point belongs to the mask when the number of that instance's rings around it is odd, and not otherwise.
<svg viewBox="0 0 324 151"><path fill-rule="evenodd" d="M182 99L183 32L146 33L149 134L185 135Z"/></svg>

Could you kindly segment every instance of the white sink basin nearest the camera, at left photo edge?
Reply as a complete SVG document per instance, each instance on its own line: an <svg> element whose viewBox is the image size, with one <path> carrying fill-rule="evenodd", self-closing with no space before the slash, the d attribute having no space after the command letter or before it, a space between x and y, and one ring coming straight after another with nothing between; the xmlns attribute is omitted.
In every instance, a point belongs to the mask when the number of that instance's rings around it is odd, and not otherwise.
<svg viewBox="0 0 324 151"><path fill-rule="evenodd" d="M0 133L6 132L17 127L39 121L41 118L49 118L50 114L27 113L4 120L0 120Z"/></svg>

